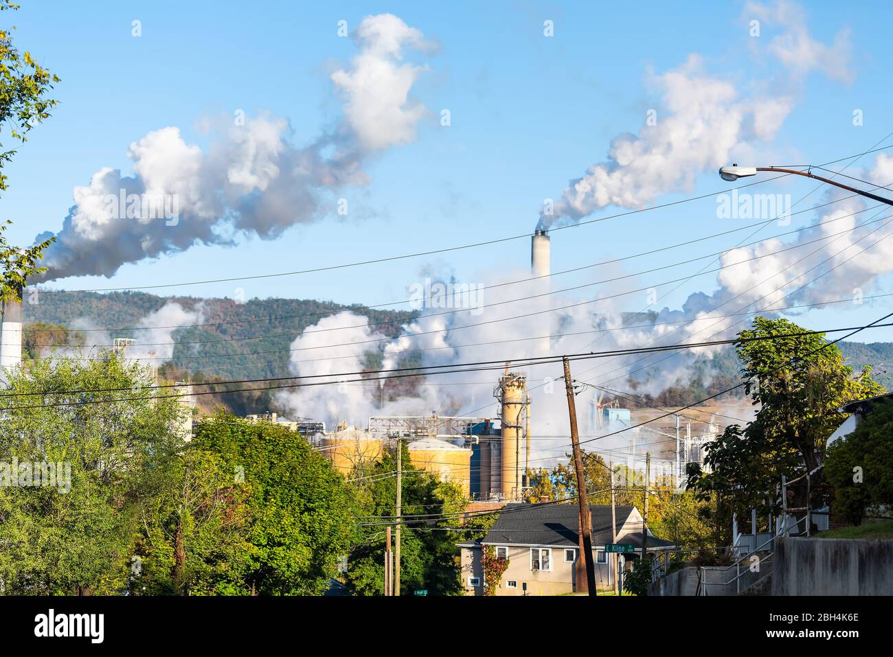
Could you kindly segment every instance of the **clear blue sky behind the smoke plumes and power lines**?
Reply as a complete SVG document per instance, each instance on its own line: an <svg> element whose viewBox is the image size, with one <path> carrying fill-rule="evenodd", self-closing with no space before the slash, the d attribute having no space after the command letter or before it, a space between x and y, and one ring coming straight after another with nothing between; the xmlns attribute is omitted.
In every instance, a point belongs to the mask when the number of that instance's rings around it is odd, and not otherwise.
<svg viewBox="0 0 893 657"><path fill-rule="evenodd" d="M830 3L805 10L813 43L845 40L847 79L823 71L822 65L782 71L770 44L783 29L763 21L763 34L751 37L748 23L754 11L741 3L22 4L14 15L17 43L62 82L54 89L60 101L54 116L33 131L7 168L11 188L0 208L4 219L14 221L11 238L18 243L61 229L73 204L72 188L87 185L96 170L112 167L129 175L129 145L150 131L176 126L188 144L204 148L208 137L202 122L238 109L288 119L288 140L298 147L333 129L342 121L343 104L333 93L330 72L348 65L357 51L350 38L338 37L338 21L355 29L367 15L390 12L439 46L436 54L406 54L407 62L427 67L411 91L428 110L414 140L366 157L368 185L321 190L329 200L347 198L347 218L323 213L277 239L246 236L238 246L196 245L125 264L111 279L64 279L55 287L163 285L310 269L530 232L544 198L558 198L568 180L603 162L615 136L638 133L649 109L662 120L665 98L651 76L678 70L691 54L701 58L705 78L730 83L742 98L791 99L772 139L748 146L755 160L747 163L827 162L859 153L893 131L883 56L891 11L884 4L860 12ZM0 18L9 22L12 16ZM131 36L136 19L141 37ZM554 21L554 37L543 34L546 20ZM451 115L448 127L438 121L443 109ZM853 124L856 109L864 117L860 126ZM866 156L854 171L872 162L874 155ZM729 187L714 170L693 174L693 186L666 190L647 204ZM797 200L813 187L809 181L785 180L765 191ZM816 193L806 203L822 199ZM614 212L622 209L609 204L588 218ZM767 234L805 226L816 216L796 215L790 228L773 227ZM552 237L553 270L736 227L735 220L718 219L715 200L707 198L562 230ZM629 273L711 253L744 235L631 261L612 271ZM497 267L522 270L529 248L522 239L362 268L160 292L232 296L235 287L244 287L248 297L380 304L404 299L405 288L427 270L471 281ZM703 264L649 274L630 285L694 273ZM865 295L890 290L889 274L866 280ZM716 287L715 275L699 277L660 305L679 308L690 293ZM638 296L625 309L638 311L642 305ZM852 326L876 319L888 305L843 304L798 321L811 328ZM893 339L893 332L866 332L859 339Z"/></svg>

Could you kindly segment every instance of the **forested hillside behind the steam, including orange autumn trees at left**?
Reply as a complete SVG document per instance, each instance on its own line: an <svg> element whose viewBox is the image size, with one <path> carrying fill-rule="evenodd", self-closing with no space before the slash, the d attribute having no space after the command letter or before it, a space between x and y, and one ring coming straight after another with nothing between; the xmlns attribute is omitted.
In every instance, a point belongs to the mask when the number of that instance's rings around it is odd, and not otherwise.
<svg viewBox="0 0 893 657"><path fill-rule="evenodd" d="M232 299L159 296L142 292L46 292L39 295L38 304L23 304L26 354L33 357L40 345L93 344L91 340L96 341L101 335L96 328L110 329L104 334L105 339L145 338L146 331L133 328L146 315L159 311L169 302L175 302L187 311L200 312L200 320L197 326L173 330L172 339L176 343L173 359L163 365L161 374L171 380L189 378L193 381L288 376L292 374L288 370L289 349L295 337L334 312L361 307L307 299L251 299L239 304ZM376 324L378 332L387 336L396 335L400 322L414 316L413 312L392 310L360 312ZM646 318L646 322L648 319L653 320ZM152 321L147 323L156 325ZM893 387L893 375L889 372L893 343L841 342L839 347L854 370L872 365L875 378L885 387ZM732 387L740 380L739 361L731 347L710 357L676 354L672 358L676 360L664 367L675 363L685 376L664 385L659 395L643 395L644 398L639 400L641 403L667 407L694 403ZM644 360L636 368L640 371L626 381L613 383L613 387L638 395L646 389L654 389L660 370L649 365L659 361L663 362L653 358ZM681 367L683 363L684 368ZM368 364L374 369L380 362ZM389 394L411 392L413 383L412 379L393 382L388 386ZM743 394L743 388L739 388L732 396ZM221 395L216 401L225 403L235 412L265 408L271 403L266 398L270 395L261 394L263 399L258 395L249 396ZM635 405L630 399L624 402Z"/></svg>

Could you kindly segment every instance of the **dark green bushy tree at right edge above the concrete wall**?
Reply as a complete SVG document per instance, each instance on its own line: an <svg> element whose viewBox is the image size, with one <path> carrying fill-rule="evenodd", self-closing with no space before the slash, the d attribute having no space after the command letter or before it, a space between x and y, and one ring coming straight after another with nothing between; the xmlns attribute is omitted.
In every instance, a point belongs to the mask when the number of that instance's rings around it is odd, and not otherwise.
<svg viewBox="0 0 893 657"><path fill-rule="evenodd" d="M862 522L866 507L893 503L893 400L875 404L825 457L825 478L834 488L831 511L850 524Z"/></svg>

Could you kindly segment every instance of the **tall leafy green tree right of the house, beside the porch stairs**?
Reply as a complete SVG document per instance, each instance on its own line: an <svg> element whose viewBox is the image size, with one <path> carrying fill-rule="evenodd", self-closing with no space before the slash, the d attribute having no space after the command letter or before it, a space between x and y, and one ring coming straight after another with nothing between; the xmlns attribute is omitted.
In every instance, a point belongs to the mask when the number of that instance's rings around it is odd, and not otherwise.
<svg viewBox="0 0 893 657"><path fill-rule="evenodd" d="M705 445L712 471L689 468L688 487L714 503L717 527L727 527L733 513L776 512L781 476L812 471L822 461L825 440L845 417L840 407L883 392L871 368L854 376L823 334L792 335L804 332L788 320L757 317L752 329L739 333L745 389L759 406L755 420L745 428L730 425Z"/></svg>

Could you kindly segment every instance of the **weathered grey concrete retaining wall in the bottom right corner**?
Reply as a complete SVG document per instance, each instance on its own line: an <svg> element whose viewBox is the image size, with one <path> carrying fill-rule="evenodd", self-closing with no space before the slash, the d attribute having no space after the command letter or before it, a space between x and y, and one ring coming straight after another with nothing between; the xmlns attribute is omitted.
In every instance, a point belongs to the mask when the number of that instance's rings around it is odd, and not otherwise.
<svg viewBox="0 0 893 657"><path fill-rule="evenodd" d="M772 595L893 595L893 541L779 538Z"/></svg>

